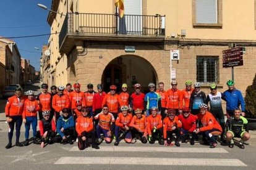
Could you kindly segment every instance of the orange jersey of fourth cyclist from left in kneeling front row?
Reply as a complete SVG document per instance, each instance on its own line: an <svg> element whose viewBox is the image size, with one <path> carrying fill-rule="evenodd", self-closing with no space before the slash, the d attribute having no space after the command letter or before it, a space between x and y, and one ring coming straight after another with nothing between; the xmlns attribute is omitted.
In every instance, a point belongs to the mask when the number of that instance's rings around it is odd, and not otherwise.
<svg viewBox="0 0 256 170"><path fill-rule="evenodd" d="M111 122L114 122L114 116L112 115L112 113L99 113L98 115L94 116L94 118L99 119L100 127L110 131L110 124Z"/></svg>

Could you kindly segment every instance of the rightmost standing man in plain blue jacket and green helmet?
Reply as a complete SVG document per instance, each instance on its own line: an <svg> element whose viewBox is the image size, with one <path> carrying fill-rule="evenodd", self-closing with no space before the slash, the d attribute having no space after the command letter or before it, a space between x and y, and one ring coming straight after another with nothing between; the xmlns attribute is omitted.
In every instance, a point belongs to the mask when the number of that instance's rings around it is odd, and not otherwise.
<svg viewBox="0 0 256 170"><path fill-rule="evenodd" d="M224 99L226 99L226 114L227 117L234 116L234 109L241 105L241 115L244 116L245 113L245 102L244 97L242 97L241 91L234 87L234 81L229 79L227 82L228 90L223 92Z"/></svg>

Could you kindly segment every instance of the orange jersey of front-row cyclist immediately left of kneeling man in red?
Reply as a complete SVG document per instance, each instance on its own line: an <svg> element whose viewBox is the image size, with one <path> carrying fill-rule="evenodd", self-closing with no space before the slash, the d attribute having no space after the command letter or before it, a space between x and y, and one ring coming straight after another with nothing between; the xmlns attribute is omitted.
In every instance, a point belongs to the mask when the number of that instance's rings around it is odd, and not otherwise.
<svg viewBox="0 0 256 170"><path fill-rule="evenodd" d="M163 120L163 137L166 139L167 137L167 131L173 131L171 129L173 126L181 127L181 122L179 121L179 118L177 116L174 116L174 119L170 119L168 116L164 118Z"/></svg>

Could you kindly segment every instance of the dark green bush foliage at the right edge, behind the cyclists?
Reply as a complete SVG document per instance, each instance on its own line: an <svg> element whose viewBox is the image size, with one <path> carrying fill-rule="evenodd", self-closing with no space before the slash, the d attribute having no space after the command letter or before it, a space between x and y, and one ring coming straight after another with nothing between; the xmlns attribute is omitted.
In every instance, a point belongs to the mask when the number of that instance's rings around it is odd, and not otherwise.
<svg viewBox="0 0 256 170"><path fill-rule="evenodd" d="M256 118L256 74L252 85L248 86L245 94L245 110L248 118Z"/></svg>

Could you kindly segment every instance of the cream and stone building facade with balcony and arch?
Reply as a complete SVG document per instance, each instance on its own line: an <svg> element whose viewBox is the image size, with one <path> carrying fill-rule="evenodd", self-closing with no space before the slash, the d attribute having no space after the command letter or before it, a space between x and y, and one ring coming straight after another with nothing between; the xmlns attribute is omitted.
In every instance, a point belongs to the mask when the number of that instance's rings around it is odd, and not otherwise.
<svg viewBox="0 0 256 170"><path fill-rule="evenodd" d="M232 4L232 6L230 5ZM236 87L245 93L256 68L255 1L239 0L124 0L119 18L113 0L53 0L48 23L50 85L103 83L130 90L140 83L166 84L172 79L183 89L187 79L203 91L217 83L227 89L231 68L223 68L223 51L245 47L243 65L234 67ZM241 8L241 6L243 6ZM237 12L239 11L239 12ZM179 60L171 60L178 50ZM175 56L176 57L176 56Z"/></svg>

